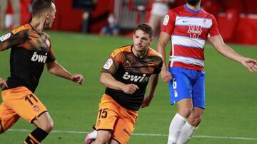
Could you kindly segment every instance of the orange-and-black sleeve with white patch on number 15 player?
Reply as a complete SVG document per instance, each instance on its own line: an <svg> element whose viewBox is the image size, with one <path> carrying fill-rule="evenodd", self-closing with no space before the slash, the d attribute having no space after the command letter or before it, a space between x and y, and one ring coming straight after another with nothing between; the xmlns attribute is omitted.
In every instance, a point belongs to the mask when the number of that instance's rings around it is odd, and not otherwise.
<svg viewBox="0 0 257 144"><path fill-rule="evenodd" d="M124 61L123 53L119 52L116 54L114 51L111 53L111 56L109 57L109 59L106 60L106 63L104 64L104 67L102 67L101 72L115 74L123 61Z"/></svg>

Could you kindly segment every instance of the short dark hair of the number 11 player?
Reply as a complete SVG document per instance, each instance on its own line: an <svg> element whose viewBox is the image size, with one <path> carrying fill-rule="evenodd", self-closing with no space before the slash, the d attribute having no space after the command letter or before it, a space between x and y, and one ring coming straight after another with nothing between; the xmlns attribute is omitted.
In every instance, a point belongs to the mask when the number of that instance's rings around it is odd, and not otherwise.
<svg viewBox="0 0 257 144"><path fill-rule="evenodd" d="M54 3L54 0L34 0L32 2L32 16L36 16L42 11L50 9L52 3Z"/></svg>

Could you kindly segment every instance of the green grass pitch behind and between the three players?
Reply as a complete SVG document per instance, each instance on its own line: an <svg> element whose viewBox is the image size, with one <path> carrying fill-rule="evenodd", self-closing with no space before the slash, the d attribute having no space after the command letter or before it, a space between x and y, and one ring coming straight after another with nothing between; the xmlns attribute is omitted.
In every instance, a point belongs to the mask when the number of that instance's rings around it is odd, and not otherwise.
<svg viewBox="0 0 257 144"><path fill-rule="evenodd" d="M99 82L101 67L112 50L132 44L132 38L61 32L49 35L57 61L70 72L83 74L85 83L79 86L44 70L36 95L54 119L54 131L43 143L82 144L96 121L98 103L104 94L104 86ZM157 38L151 45L154 49L156 42ZM242 55L257 58L256 46L231 47ZM10 50L0 52L0 76L4 79L9 76L9 53ZM257 74L219 55L211 45L206 45L205 54L206 111L190 143L257 143ZM160 79L151 105L138 114L129 143L166 143L175 113L176 106L169 102L168 84ZM32 130L34 126L20 119L10 131L0 135L0 143L23 143Z"/></svg>

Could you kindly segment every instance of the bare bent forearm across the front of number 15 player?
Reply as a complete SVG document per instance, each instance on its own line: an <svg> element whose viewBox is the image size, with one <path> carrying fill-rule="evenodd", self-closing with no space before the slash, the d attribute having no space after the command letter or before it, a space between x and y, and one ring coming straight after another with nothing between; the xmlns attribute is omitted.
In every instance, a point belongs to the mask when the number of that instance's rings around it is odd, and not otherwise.
<svg viewBox="0 0 257 144"><path fill-rule="evenodd" d="M121 90L126 94L133 94L138 89L138 86L136 84L124 84L122 82L119 82L107 72L102 72L100 82L106 87Z"/></svg>

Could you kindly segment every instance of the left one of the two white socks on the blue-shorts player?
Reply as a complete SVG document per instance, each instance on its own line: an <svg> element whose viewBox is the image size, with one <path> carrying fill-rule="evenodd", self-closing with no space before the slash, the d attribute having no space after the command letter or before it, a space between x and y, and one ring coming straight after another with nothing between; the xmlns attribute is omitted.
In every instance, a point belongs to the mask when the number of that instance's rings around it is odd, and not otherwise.
<svg viewBox="0 0 257 144"><path fill-rule="evenodd" d="M168 133L168 144L176 143L181 133L181 128L186 123L186 118L176 113L171 121Z"/></svg>

